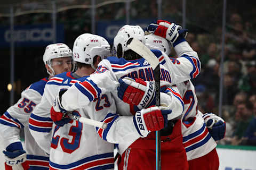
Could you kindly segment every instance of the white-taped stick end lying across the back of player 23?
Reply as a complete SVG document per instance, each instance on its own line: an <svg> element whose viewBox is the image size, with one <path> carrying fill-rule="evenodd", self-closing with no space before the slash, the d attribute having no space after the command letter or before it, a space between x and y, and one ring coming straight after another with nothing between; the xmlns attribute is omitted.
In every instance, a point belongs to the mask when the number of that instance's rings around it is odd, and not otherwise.
<svg viewBox="0 0 256 170"><path fill-rule="evenodd" d="M107 128L106 123L99 122L99 121L94 121L94 120L91 120L90 118L80 117L80 116L73 115L73 114L69 114L68 118L70 118L71 120L75 120L75 121L79 121L81 123L88 124L88 125L96 126L98 128L101 128L101 129L106 129Z"/></svg>

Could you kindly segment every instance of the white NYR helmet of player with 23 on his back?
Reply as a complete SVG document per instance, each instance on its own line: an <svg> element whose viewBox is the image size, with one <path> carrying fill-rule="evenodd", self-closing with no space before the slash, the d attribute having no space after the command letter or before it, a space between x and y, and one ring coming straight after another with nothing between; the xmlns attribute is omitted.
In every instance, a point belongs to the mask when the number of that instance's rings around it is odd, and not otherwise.
<svg viewBox="0 0 256 170"><path fill-rule="evenodd" d="M110 45L108 41L97 35L91 33L84 33L78 36L73 46L74 61L84 64L93 65L93 58L100 56L101 60L110 56Z"/></svg>

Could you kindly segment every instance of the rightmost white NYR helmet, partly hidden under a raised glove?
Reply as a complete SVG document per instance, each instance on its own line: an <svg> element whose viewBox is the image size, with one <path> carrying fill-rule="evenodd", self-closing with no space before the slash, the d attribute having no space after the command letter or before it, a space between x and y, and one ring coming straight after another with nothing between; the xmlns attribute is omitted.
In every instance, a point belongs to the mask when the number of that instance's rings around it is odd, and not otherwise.
<svg viewBox="0 0 256 170"><path fill-rule="evenodd" d="M163 37L156 36L154 34L149 34L145 36L146 46L149 49L158 49L169 55L171 53L170 43Z"/></svg>

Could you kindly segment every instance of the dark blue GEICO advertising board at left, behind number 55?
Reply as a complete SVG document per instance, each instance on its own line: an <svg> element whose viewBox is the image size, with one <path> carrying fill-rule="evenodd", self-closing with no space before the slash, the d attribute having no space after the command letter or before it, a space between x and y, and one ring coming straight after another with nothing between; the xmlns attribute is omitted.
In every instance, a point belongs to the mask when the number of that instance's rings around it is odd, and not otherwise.
<svg viewBox="0 0 256 170"><path fill-rule="evenodd" d="M10 46L10 27L0 28L1 46ZM14 27L13 39L15 46L42 46L52 43L54 32L51 24L22 25ZM57 24L56 39L59 42L64 40L64 30L62 24Z"/></svg>

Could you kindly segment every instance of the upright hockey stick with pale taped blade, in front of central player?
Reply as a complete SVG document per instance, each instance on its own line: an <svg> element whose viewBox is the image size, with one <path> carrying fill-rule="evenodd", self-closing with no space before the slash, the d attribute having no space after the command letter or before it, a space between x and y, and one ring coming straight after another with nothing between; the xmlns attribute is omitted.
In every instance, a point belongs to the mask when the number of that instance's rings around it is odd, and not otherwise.
<svg viewBox="0 0 256 170"><path fill-rule="evenodd" d="M155 78L156 106L160 106L160 66L159 60L151 50L135 38L127 41L127 47L145 58L151 65ZM161 134L156 131L156 169L161 170Z"/></svg>

